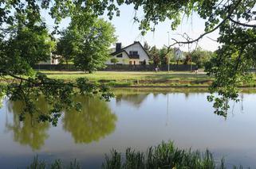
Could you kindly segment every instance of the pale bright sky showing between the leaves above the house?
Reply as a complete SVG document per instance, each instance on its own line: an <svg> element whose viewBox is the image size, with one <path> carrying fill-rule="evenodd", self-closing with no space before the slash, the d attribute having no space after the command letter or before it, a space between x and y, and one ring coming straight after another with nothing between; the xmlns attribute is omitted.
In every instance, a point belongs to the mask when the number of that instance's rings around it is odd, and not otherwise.
<svg viewBox="0 0 256 169"><path fill-rule="evenodd" d="M150 46L156 45L157 48L162 48L164 45L168 45L168 36L169 44L174 43L171 38L175 40L184 41L183 37L180 34L187 33L191 38L197 38L200 34L204 33L204 21L199 18L197 13L189 18L184 18L183 22L175 31L171 31L171 21L164 21L159 25L156 25L155 32L148 32L145 36L142 36L139 30L139 24L134 23L133 17L135 15L135 10L133 6L120 6L120 17L113 17L112 20L108 20L108 16L104 14L102 16L106 21L110 21L112 25L116 28L117 42L122 43L122 46L132 44L134 41L140 41L141 44L144 44L145 41L148 42ZM143 11L139 10L137 15L142 17ZM49 29L54 25L53 19L49 17L48 11L41 11L41 16L45 17L49 25ZM61 21L60 27L65 29L69 25L69 19ZM205 50L215 51L219 44L215 41L219 36L218 30L214 33L208 34L202 40L199 41L197 47L201 47ZM183 51L192 51L195 49L195 44L186 46L175 45L176 48L181 48Z"/></svg>

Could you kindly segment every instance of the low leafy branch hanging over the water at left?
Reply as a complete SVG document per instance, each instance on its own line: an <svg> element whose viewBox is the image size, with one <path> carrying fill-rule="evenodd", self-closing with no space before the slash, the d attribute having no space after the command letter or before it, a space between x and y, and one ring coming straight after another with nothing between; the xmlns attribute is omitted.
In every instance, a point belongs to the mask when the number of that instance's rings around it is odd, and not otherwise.
<svg viewBox="0 0 256 169"><path fill-rule="evenodd" d="M81 102L73 102L77 95L98 95L105 100L113 96L107 86L89 83L88 79L79 78L75 83L65 83L63 80L49 79L46 75L37 73L33 78L22 78L19 83L11 83L6 86L6 95L11 101L23 101L25 103L22 113L19 114L20 121L24 121L26 113L31 116L38 115L38 121L50 121L57 125L61 111L65 109L81 110ZM36 101L41 97L49 105L48 109L40 109Z"/></svg>

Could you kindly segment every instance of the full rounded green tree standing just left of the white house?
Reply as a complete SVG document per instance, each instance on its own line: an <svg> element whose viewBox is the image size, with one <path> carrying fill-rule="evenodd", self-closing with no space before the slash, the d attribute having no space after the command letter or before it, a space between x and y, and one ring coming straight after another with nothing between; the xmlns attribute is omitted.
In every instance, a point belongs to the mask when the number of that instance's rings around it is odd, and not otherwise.
<svg viewBox="0 0 256 169"><path fill-rule="evenodd" d="M96 71L105 67L109 47L116 41L114 27L103 19L77 16L57 43L57 53L65 60L73 59L81 71Z"/></svg>

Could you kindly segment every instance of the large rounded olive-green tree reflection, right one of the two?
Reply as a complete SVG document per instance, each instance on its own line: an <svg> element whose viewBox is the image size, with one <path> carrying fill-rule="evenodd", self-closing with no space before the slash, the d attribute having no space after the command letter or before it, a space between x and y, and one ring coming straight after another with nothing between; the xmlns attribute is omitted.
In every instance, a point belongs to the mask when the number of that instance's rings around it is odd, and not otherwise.
<svg viewBox="0 0 256 169"><path fill-rule="evenodd" d="M90 143L100 140L116 129L116 115L107 102L99 98L77 97L81 102L81 112L70 109L65 112L63 129L72 134L76 143Z"/></svg>

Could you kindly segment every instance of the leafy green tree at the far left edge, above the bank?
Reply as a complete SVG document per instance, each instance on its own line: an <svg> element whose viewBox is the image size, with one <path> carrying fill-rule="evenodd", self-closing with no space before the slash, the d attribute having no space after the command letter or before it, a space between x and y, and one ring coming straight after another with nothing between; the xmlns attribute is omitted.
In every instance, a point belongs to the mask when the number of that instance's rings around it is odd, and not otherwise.
<svg viewBox="0 0 256 169"><path fill-rule="evenodd" d="M2 39L1 68L5 75L31 75L33 64L49 60L55 47L52 37L43 24L33 25L20 13L15 15L16 24L10 27L8 39ZM36 57L35 57L36 56ZM0 74L1 75L1 74Z"/></svg>

